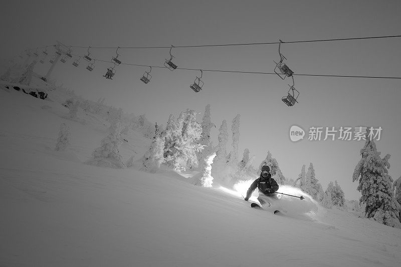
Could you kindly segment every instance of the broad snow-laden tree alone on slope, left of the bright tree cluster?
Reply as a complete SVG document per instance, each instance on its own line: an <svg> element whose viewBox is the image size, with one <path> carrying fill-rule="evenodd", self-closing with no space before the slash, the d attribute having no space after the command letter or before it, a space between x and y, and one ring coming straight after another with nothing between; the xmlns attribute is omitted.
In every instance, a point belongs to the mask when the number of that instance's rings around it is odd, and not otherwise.
<svg viewBox="0 0 401 267"><path fill-rule="evenodd" d="M122 156L118 150L121 145L119 139L121 133L121 124L115 124L111 129L110 134L102 139L101 147L96 148L92 153L92 158L86 164L105 166L111 168L124 168L125 164L122 162Z"/></svg>

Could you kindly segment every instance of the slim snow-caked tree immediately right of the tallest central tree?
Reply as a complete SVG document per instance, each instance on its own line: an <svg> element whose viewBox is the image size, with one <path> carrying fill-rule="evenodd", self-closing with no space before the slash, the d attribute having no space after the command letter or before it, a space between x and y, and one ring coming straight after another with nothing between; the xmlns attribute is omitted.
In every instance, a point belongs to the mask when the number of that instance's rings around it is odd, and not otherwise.
<svg viewBox="0 0 401 267"><path fill-rule="evenodd" d="M215 147L216 157L212 163L212 176L214 179L223 180L222 172L226 168L226 156L227 156L227 141L229 134L227 133L227 121L223 120L222 125L219 128L218 145Z"/></svg>

